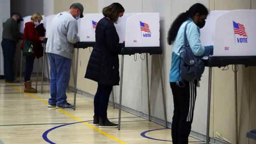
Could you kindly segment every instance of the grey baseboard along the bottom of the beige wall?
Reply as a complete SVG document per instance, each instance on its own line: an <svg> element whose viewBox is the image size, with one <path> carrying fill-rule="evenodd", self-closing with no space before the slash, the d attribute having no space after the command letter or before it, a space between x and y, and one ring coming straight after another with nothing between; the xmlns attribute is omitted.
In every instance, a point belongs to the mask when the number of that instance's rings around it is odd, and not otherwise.
<svg viewBox="0 0 256 144"><path fill-rule="evenodd" d="M74 92L74 87L68 86L68 90ZM89 94L89 93L87 93L87 92L84 92L84 91L82 91L82 90L77 90L76 92L77 92L78 94L83 95L83 96L87 96L87 97L89 97L89 98L94 99L94 95ZM108 102L108 105L109 105L109 106L114 106L114 103L109 101L109 102ZM115 108L118 108L118 109L119 109L119 104L115 103ZM134 114L134 115L136 115L136 116L140 116L141 118L144 118L144 119L148 120L148 114L145 114L145 113L143 113L143 112L140 112L140 111L137 111L137 110L133 110L133 109L128 108L128 107L126 107L126 106L122 106L121 110L123 110L123 111L125 111L125 112L128 112L128 113L130 113L130 114ZM164 126L164 120L162 120L162 119L160 119L160 118L151 116L151 121L154 122L154 123L156 123L156 124L159 124L159 125L161 125L161 126ZM172 123L170 123L170 122L167 122L167 123L168 123L168 124L167 124L167 125L168 125L168 128L171 128ZM196 139L198 139L198 140L202 140L202 141L204 141L204 142L206 141L206 135L200 134L200 133L198 133L198 132L191 131L191 132L190 132L190 136L193 137L193 138L196 138ZM210 138L210 143L212 143L212 144L228 144L228 142L224 142L224 141L222 141L222 140L218 140L218 139L213 138L213 137Z"/></svg>

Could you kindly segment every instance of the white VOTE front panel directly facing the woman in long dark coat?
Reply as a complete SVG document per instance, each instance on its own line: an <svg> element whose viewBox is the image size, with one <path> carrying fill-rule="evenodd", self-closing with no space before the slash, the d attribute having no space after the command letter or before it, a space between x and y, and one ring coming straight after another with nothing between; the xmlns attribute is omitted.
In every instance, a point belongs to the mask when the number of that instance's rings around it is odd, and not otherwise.
<svg viewBox="0 0 256 144"><path fill-rule="evenodd" d="M159 13L137 13L126 20L125 47L160 46Z"/></svg>

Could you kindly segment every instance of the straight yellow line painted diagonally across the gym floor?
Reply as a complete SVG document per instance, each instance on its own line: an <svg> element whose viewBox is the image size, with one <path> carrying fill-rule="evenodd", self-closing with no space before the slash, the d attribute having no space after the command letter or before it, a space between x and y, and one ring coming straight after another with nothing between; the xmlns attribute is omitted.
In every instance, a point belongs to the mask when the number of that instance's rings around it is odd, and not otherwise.
<svg viewBox="0 0 256 144"><path fill-rule="evenodd" d="M13 86L13 85L10 84L10 83L7 83L7 82L6 82L6 84L8 84L9 86L12 86L12 87L15 88L16 90L19 90L19 91L21 91L21 92L24 92L24 91L21 90L20 88L18 88L18 87L16 87L16 86ZM40 99L40 98L34 96L33 94L26 93L26 92L24 92L24 93L27 94L27 95L29 95L29 96L31 96L31 97L33 97L33 98L36 98L36 99L40 100L41 102L44 102L45 104L48 104L48 102L46 102L46 101L44 101L44 100L42 100L42 99ZM77 120L77 121L79 121L79 122L82 122L82 121L83 121L83 120L81 120L81 119L79 119L79 118L73 116L72 114L69 114L68 112L65 112L65 111L62 110L62 109L57 109L57 108L56 108L56 110L58 110L58 111L60 111L60 112L62 112L62 113L64 113L64 114L66 114L67 116L70 116L71 118L74 118L75 120ZM100 130L100 129L98 129L98 128L92 126L92 125L90 125L90 124L87 123L87 122L83 122L83 123L86 124L86 126L89 126L90 128L92 128L92 129L94 129L94 130L100 132L101 134L104 134L105 136L108 136L109 138L112 138L113 140L116 140L117 142L120 142L121 144L126 144L126 143L123 142L122 140L119 140L118 138L115 138L114 136L111 136L110 134L108 134L108 133L106 133L106 132L103 132L102 130Z"/></svg>

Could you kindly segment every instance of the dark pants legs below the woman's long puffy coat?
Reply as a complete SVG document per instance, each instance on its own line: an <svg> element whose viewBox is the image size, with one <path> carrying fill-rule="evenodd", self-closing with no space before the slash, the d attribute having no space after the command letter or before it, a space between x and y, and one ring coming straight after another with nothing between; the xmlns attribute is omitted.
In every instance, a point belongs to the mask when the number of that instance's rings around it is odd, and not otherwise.
<svg viewBox="0 0 256 144"><path fill-rule="evenodd" d="M113 86L98 83L98 89L94 97L94 116L106 118L108 110L108 101Z"/></svg>

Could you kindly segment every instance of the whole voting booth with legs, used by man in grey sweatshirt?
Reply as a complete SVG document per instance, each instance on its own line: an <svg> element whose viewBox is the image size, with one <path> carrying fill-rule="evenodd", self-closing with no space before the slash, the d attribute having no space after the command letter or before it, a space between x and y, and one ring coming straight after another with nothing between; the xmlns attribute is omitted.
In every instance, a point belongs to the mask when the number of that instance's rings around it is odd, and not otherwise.
<svg viewBox="0 0 256 144"><path fill-rule="evenodd" d="M100 19L104 16L103 14L84 14L83 18L80 18L79 36L80 42L76 43L74 48L76 50L76 70L75 70L75 84L74 84L74 110L76 110L76 84L77 84L77 69L78 69L78 54L79 48L89 48L95 45L95 30Z"/></svg>

